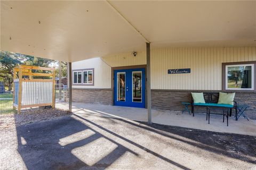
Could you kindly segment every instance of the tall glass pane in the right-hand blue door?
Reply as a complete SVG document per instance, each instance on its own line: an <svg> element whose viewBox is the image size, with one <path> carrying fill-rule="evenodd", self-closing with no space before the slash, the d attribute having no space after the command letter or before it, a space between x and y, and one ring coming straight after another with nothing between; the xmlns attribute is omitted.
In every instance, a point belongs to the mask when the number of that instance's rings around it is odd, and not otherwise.
<svg viewBox="0 0 256 170"><path fill-rule="evenodd" d="M141 102L142 94L141 94L141 71L140 72L132 72L132 101L133 102Z"/></svg>

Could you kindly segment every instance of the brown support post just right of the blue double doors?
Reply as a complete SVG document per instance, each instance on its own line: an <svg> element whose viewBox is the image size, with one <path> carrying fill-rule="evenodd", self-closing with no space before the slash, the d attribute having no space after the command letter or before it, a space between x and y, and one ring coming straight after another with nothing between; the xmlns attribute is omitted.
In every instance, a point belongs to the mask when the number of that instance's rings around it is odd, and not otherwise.
<svg viewBox="0 0 256 170"><path fill-rule="evenodd" d="M151 84L150 84L150 43L146 43L147 47L147 105L148 105L148 123L152 123L151 115Z"/></svg>

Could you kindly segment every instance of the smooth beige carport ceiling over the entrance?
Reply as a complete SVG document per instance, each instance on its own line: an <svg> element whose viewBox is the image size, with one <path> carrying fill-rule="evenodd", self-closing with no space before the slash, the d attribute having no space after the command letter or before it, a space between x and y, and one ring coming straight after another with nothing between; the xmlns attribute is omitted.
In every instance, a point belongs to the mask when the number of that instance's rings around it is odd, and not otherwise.
<svg viewBox="0 0 256 170"><path fill-rule="evenodd" d="M113 7L114 6L114 7ZM255 1L1 1L1 50L74 62L151 46L255 46Z"/></svg>

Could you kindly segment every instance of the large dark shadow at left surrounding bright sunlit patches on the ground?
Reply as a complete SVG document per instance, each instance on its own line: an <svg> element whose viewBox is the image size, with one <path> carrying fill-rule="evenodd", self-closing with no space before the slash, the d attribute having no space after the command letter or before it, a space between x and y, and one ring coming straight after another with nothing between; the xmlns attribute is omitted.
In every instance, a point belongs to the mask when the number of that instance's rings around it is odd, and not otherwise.
<svg viewBox="0 0 256 170"><path fill-rule="evenodd" d="M60 145L60 139L84 130L91 130L94 133L88 138L73 143L66 141L68 145ZM80 169L90 166L105 169L126 151L137 155L132 150L119 145L71 117L18 126L17 136L18 151L28 169ZM115 143L117 147L106 157L98 160L97 163L89 166L71 153L73 149L85 146L100 138Z"/></svg>

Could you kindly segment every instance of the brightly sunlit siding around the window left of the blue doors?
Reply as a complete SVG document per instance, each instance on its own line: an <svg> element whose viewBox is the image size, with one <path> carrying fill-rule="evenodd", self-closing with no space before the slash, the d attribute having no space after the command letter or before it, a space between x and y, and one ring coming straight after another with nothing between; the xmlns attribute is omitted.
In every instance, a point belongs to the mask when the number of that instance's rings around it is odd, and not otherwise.
<svg viewBox="0 0 256 170"><path fill-rule="evenodd" d="M100 57L72 63L72 70L94 68L94 86L74 86L73 88L111 88L111 67Z"/></svg>

